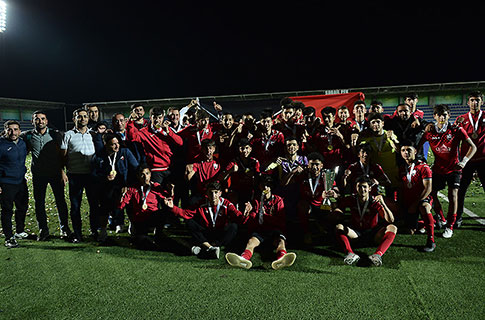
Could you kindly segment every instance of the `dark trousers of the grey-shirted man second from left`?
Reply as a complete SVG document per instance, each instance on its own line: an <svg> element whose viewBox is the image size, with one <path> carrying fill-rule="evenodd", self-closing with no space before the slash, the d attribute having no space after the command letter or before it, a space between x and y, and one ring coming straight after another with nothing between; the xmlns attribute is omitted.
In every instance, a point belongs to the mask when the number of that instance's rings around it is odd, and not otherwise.
<svg viewBox="0 0 485 320"><path fill-rule="evenodd" d="M54 194L54 199L56 201L61 231L69 229L67 204L64 197L64 183L61 181L61 176L43 177L33 175L32 183L34 187L35 216L37 217L39 229L43 232L49 231L47 226L47 215L45 212L45 195L48 184L51 185L52 193Z"/></svg>

